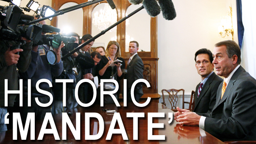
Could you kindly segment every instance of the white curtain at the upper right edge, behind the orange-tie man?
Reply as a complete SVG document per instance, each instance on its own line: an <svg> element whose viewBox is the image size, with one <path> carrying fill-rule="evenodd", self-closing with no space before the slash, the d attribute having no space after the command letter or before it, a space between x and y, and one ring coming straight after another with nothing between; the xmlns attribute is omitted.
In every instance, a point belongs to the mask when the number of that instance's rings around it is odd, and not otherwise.
<svg viewBox="0 0 256 144"><path fill-rule="evenodd" d="M242 66L256 78L256 0L242 0L242 22L245 27L242 43Z"/></svg>

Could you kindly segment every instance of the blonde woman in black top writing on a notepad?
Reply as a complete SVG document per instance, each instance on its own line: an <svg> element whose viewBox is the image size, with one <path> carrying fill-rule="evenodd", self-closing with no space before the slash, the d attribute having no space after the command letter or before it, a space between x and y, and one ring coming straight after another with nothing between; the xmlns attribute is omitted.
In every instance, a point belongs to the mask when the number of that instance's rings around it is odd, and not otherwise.
<svg viewBox="0 0 256 144"><path fill-rule="evenodd" d="M105 56L101 57L100 63L97 65L97 69L99 71L100 79L115 79L120 85L120 79L123 78L124 74L121 69L125 68L125 60L120 57L120 46L116 41L109 41L109 44L106 48ZM115 63L114 66L110 66L112 62L115 60L121 60L122 62ZM106 87L106 85L105 85ZM105 88L104 87L104 88ZM119 97L120 88L117 91L116 98ZM113 99L108 98L108 96L104 95L104 103L114 103Z"/></svg>

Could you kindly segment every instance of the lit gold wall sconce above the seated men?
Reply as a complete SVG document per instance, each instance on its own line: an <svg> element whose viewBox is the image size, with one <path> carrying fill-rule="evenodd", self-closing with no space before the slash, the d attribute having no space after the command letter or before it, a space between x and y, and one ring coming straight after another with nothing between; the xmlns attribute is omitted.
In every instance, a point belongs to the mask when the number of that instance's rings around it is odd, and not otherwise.
<svg viewBox="0 0 256 144"><path fill-rule="evenodd" d="M234 29L233 29L233 22L232 22L232 8L228 12L228 16L225 16L224 19L221 20L221 26L218 27L220 36L225 38L225 36L232 35L232 40L234 41Z"/></svg>

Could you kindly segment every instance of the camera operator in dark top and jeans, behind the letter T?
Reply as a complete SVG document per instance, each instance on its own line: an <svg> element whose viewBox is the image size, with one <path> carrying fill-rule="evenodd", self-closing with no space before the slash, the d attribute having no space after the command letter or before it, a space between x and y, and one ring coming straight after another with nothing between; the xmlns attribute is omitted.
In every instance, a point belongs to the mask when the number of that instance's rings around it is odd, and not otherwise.
<svg viewBox="0 0 256 144"><path fill-rule="evenodd" d="M77 43L77 46L79 44L79 35L77 33L69 33L67 35L64 35L67 37L74 37L76 39L76 41L74 41L74 43ZM67 41L69 42L69 41ZM71 41L73 42L73 41ZM67 54L69 52L69 49L67 47L68 45L66 44L66 46L64 48L61 49L61 54L62 56ZM77 69L78 66L75 65L75 57L72 55L70 57L67 57L66 59L63 60L63 68L67 74L78 74L77 73ZM73 70L75 71L75 73L73 72ZM61 75L62 76L62 75ZM77 75L75 75L77 77ZM60 76L59 76L60 77ZM58 77L56 77L56 79L59 79ZM60 79L66 79L65 77L62 77ZM76 106L78 106L77 101L75 100L75 88L73 87L68 87L69 85L67 84L66 87L66 107L64 107L64 111L66 111L67 109L75 109ZM61 91L61 92L60 92ZM63 84L62 83L54 83L53 84L53 93L54 93L54 102L53 102L53 106L52 106L52 113L53 114L58 114L63 112Z"/></svg>

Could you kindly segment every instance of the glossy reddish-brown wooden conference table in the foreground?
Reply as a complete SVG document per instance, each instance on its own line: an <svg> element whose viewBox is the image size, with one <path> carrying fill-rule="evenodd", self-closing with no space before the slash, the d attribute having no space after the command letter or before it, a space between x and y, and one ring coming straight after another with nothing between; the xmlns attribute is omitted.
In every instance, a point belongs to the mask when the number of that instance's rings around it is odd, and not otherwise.
<svg viewBox="0 0 256 144"><path fill-rule="evenodd" d="M30 143L47 143L47 144L223 144L222 141L218 140L214 136L195 126L181 126L178 125L175 120L168 124L170 118L168 118L168 113L173 112L161 103L150 103L145 107L134 106L133 103L128 103L128 107L124 107L123 103L120 103L120 107L114 104L107 104L104 107L99 105L94 105L90 107L78 106L77 111L81 113L81 140L75 140L70 129L67 127L67 140L55 140L53 134L45 134L43 140L30 140L30 133L28 133L27 140L21 140L19 130L18 130L18 140L12 140L12 130L6 131L5 136L1 136L1 143L3 144L30 144ZM123 140L122 134L113 134L111 140L106 140L106 136L109 131L111 120L114 114L107 114L102 111L102 109L113 109L120 113L125 131L127 133L129 140ZM70 120L73 125L75 125L75 110L72 110L72 116ZM104 132L98 140L84 140L85 137L85 113L95 112L99 113L104 120ZM133 118L126 117L127 112L144 112L145 118L138 119L138 140L133 140ZM165 118L153 118L153 123L164 123L164 128L153 128L153 135L165 135L165 140L147 140L147 113L149 112L164 112ZM58 135L62 139L62 114L56 114L53 116L56 128L58 130ZM36 135L35 139L38 138L42 121L36 122ZM50 128L48 123L47 128ZM99 128L99 122L96 118L91 118L90 120L90 135L97 134ZM116 123L116 129L119 129L119 125ZM204 133L204 134L202 134Z"/></svg>

